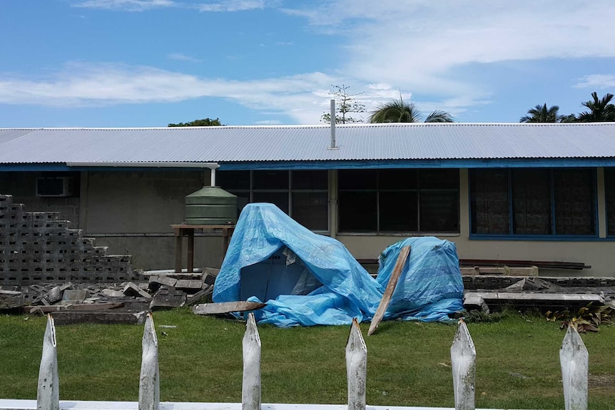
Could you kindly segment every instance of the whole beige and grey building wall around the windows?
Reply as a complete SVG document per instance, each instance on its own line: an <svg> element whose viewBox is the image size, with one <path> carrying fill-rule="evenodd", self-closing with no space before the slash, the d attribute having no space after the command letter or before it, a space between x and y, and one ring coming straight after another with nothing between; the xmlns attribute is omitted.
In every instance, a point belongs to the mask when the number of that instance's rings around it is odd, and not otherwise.
<svg viewBox="0 0 615 410"><path fill-rule="evenodd" d="M330 224L337 221L336 171L330 171ZM604 237L604 185L598 170L599 227ZM14 195L27 210L55 210L71 227L95 237L96 245L108 246L108 255L132 255L133 267L154 270L174 265L175 237L172 224L184 220L184 197L203 185L202 171L90 171L81 173L78 198L36 198L34 183L39 173L0 173L0 193ZM470 240L468 170L459 173L459 234L436 234L457 245L459 257L493 260L547 260L584 262L589 270L542 270L541 275L584 275L615 277L610 255L615 242L609 240ZM331 235L344 243L357 259L376 258L388 245L405 235ZM185 259L185 255L184 255ZM195 266L219 267L223 260L222 237L195 237ZM185 264L185 262L184 262ZM184 265L185 266L185 265Z"/></svg>

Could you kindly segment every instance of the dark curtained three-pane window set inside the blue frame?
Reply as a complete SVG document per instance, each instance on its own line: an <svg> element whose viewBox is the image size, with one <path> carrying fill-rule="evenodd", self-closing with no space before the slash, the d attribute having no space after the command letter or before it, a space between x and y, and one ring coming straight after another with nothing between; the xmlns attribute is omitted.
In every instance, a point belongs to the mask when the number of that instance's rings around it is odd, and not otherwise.
<svg viewBox="0 0 615 410"><path fill-rule="evenodd" d="M594 168L471 170L471 232L596 235L594 175Z"/></svg>

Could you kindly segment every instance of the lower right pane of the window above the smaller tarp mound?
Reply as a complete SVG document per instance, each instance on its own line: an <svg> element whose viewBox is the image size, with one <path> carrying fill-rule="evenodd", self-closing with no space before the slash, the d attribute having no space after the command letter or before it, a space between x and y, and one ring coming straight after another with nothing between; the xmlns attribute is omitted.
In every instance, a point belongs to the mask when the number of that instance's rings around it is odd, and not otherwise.
<svg viewBox="0 0 615 410"><path fill-rule="evenodd" d="M421 191L421 232L459 232L459 193Z"/></svg>

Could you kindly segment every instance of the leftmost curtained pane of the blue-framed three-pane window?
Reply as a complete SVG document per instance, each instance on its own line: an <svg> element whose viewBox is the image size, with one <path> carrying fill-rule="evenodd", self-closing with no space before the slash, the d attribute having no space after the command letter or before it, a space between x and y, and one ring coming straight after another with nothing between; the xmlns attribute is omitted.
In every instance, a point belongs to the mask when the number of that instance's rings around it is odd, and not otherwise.
<svg viewBox="0 0 615 410"><path fill-rule="evenodd" d="M507 170L470 173L472 233L510 233Z"/></svg>

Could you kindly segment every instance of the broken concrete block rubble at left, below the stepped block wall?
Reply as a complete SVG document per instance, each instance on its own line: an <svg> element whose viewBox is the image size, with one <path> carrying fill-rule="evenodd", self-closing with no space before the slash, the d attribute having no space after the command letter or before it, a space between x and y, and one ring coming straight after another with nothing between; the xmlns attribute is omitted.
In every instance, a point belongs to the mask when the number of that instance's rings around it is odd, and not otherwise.
<svg viewBox="0 0 615 410"><path fill-rule="evenodd" d="M202 273L149 272L141 280L121 283L41 282L0 287L0 312L46 314L56 324L139 323L145 312L207 302L218 270ZM210 299L210 298L209 298Z"/></svg>

